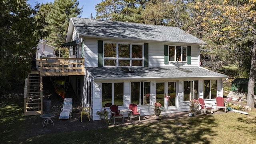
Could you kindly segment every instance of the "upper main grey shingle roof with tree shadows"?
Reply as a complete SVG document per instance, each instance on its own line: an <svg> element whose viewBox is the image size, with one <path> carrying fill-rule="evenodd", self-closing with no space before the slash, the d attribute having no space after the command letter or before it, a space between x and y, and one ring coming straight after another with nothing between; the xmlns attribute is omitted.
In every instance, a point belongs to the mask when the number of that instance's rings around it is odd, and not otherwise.
<svg viewBox="0 0 256 144"><path fill-rule="evenodd" d="M206 44L206 42L186 33L178 27L77 17L72 17L71 20L78 30L80 37Z"/></svg>

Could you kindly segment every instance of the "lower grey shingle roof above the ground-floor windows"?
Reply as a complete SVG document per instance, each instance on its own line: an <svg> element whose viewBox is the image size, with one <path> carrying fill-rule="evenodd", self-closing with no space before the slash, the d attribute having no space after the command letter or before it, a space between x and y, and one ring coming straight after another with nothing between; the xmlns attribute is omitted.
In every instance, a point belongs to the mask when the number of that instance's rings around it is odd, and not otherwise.
<svg viewBox="0 0 256 144"><path fill-rule="evenodd" d="M108 79L136 79L136 78L205 78L205 77L227 77L218 72L204 70L202 68L184 68L192 72L184 72L177 68L132 68L134 73L127 73L120 68L100 67L86 68L95 80Z"/></svg>

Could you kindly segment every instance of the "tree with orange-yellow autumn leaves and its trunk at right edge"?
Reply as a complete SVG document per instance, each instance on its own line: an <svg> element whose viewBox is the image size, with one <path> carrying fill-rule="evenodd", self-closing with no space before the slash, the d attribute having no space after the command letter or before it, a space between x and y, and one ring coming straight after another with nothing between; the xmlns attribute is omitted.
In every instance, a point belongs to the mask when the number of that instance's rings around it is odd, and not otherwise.
<svg viewBox="0 0 256 144"><path fill-rule="evenodd" d="M251 65L248 83L247 106L254 107L256 78L256 0L205 0L198 1L197 19L202 19L198 28L209 40L218 40L225 47L250 52Z"/></svg>

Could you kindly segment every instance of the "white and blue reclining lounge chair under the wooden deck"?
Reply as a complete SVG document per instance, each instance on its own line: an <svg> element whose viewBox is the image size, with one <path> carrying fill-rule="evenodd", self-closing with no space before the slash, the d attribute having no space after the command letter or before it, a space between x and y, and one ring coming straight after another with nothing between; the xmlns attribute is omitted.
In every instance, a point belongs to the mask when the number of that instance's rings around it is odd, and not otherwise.
<svg viewBox="0 0 256 144"><path fill-rule="evenodd" d="M72 113L72 98L64 98L63 108L60 109L60 119L71 118Z"/></svg>

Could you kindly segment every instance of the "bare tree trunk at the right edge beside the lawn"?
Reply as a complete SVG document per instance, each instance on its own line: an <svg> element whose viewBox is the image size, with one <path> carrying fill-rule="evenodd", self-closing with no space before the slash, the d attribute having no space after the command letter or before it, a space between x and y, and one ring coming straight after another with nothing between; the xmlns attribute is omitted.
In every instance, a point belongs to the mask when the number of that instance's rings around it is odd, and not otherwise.
<svg viewBox="0 0 256 144"><path fill-rule="evenodd" d="M254 86L256 75L256 39L252 48L252 64L250 69L250 77L248 82L247 106L254 108Z"/></svg>

